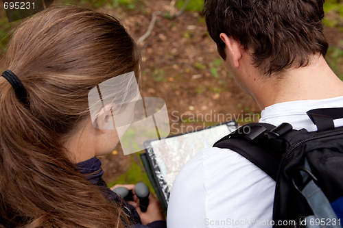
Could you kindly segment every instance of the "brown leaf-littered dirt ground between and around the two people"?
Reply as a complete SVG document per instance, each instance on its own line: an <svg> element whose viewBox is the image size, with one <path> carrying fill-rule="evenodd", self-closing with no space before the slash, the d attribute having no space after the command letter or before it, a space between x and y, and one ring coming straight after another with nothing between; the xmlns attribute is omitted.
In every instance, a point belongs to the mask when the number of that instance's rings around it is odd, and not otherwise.
<svg viewBox="0 0 343 228"><path fill-rule="evenodd" d="M127 27L138 40L149 23L152 12L168 12L170 1L145 1L142 10L108 11ZM343 33L327 28L330 45L338 45ZM199 12L184 12L176 19L158 16L156 25L141 45L143 73L141 94L143 97L160 97L165 100L169 121L182 125L207 126L227 120L211 120L211 123L182 123L182 114L257 114L261 112L257 103L249 97L226 72L220 62L215 43L206 32L204 18ZM255 120L258 121L258 120ZM174 125L176 126L176 125ZM185 127L183 128L185 131ZM114 153L100 157L104 164L106 181L113 181L130 168L132 162L139 162L138 155L122 155L121 146ZM142 170L144 172L144 170Z"/></svg>

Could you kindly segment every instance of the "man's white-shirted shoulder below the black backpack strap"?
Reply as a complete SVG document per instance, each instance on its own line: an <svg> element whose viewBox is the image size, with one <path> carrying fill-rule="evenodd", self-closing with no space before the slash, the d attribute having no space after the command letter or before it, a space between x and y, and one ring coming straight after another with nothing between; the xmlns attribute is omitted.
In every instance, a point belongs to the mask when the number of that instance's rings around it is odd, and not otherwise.
<svg viewBox="0 0 343 228"><path fill-rule="evenodd" d="M271 219L274 189L275 181L239 153L204 149L187 162L174 181L169 219L199 223L197 227L204 227L204 220L200 224L199 218L223 220L228 214L235 220ZM261 210L251 210L256 205Z"/></svg>

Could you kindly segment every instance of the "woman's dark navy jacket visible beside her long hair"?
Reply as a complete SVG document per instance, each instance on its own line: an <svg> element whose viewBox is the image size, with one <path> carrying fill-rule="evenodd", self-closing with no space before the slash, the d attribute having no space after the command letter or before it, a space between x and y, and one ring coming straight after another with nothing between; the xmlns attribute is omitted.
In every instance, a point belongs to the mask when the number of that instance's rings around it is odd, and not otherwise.
<svg viewBox="0 0 343 228"><path fill-rule="evenodd" d="M102 162L97 159L97 157L93 157L90 160L86 160L84 162L80 162L76 164L78 167L78 170L80 170L80 173L84 174L88 181L93 183L95 186L99 186L99 189L102 190L104 196L107 199L110 199L112 201L115 201L121 204L123 203L124 211L128 211L128 215L132 217L132 220L135 221L136 224L132 225L131 227L134 228L143 228L143 227L150 227L150 228L166 228L167 223L165 221L155 221L153 223L149 223L147 225L141 225L141 218L139 217L139 214L134 209L132 205L127 203L126 201L123 201L115 192L110 190L110 188L107 187L106 182L104 179L102 179L102 175L104 174L104 170L102 170Z"/></svg>

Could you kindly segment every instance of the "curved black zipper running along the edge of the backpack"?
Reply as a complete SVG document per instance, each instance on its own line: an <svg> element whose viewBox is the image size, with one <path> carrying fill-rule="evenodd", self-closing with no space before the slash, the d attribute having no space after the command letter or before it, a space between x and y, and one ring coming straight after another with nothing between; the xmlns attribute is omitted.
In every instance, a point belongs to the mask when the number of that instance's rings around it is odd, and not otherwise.
<svg viewBox="0 0 343 228"><path fill-rule="evenodd" d="M285 157L283 157L283 160L281 160L280 166L277 170L276 173L276 186L275 186L275 200L273 203L273 220L274 220L274 214L275 214L275 205L277 203L279 203L280 201L280 194L279 194L279 183L280 183L280 178L281 178L281 170L283 169L283 166L285 166L285 163L287 161L287 158L289 157L289 155L297 148L299 147L301 144L305 143L305 142L309 142L311 140L316 140L316 139L320 139L320 138L326 138L326 137L330 137L330 136L338 136L340 134L343 134L343 131L336 131L336 132L332 132L332 133L327 133L327 134L322 134L319 136L314 136L312 138L307 138L305 140L300 140L299 142L297 142L296 144L294 144L286 153ZM274 221L275 222L275 221Z"/></svg>

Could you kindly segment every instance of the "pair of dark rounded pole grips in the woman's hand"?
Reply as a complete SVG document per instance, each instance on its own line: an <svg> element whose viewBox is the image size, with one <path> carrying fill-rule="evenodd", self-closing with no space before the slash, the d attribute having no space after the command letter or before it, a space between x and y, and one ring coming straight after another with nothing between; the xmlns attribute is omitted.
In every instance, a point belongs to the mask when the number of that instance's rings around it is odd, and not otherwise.
<svg viewBox="0 0 343 228"><path fill-rule="evenodd" d="M131 190L125 187L117 187L113 189L113 192L117 193L121 198L126 201L133 201L133 193ZM149 205L149 194L150 190L147 188L147 185L143 182L136 183L134 186L134 193L139 199L139 208L142 212L147 211L147 206Z"/></svg>

